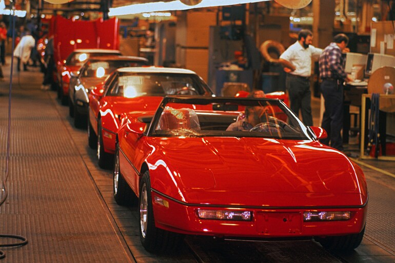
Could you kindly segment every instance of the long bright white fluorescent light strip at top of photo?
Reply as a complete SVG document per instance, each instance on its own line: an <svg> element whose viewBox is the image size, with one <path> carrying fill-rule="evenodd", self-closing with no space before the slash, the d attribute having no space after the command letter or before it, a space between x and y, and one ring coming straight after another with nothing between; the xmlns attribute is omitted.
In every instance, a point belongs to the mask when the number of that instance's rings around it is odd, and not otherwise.
<svg viewBox="0 0 395 263"><path fill-rule="evenodd" d="M183 0L183 2L196 3L200 0ZM213 7L213 6L231 6L238 4L247 4L247 3L258 3L265 2L269 0L201 0L200 3L195 4L193 6L183 4L181 1L172 1L172 2L152 2L145 4L135 4L129 6L122 6L116 8L110 8L108 13L109 16L115 15L128 15L128 14L140 14L140 13L150 13L157 11L173 11L173 10L187 10L192 8L205 8L205 7Z"/></svg>

